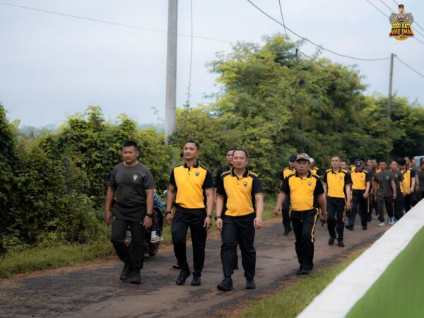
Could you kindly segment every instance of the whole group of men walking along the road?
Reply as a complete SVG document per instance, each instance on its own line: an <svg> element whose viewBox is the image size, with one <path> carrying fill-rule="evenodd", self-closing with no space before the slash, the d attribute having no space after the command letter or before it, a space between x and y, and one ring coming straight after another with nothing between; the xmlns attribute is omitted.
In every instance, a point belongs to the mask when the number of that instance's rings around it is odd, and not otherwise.
<svg viewBox="0 0 424 318"><path fill-rule="evenodd" d="M220 257L224 276L217 288L224 291L233 289L232 274L234 269L237 269L238 245L245 271L245 288L254 289L254 236L255 231L262 227L264 211L261 180L247 167L249 156L243 149L228 151L228 165L218 172L215 180L211 172L197 160L199 153L199 143L194 140L187 141L182 151L184 163L174 167L170 173L165 220L171 225L172 243L180 269L176 283L183 285L192 275L191 285L201 285L206 235L212 225L215 204L216 227L220 230L222 239ZM122 281L136 284L141 283L140 270L146 252L143 250L143 240L152 225L155 188L151 172L137 160L138 156L139 150L134 141L123 144L123 162L112 170L105 201L105 221L112 224L112 244L118 257L124 261L120 278ZM373 199L377 201L379 220L384 224L382 208L383 204L386 204L389 222L392 222L391 202L387 199L391 194L390 189L393 192L391 199L396 200L399 191L400 196L406 198L418 184L412 183L418 178L410 167L404 167L406 165L401 165L399 172L387 172L383 161L380 161L379 171L369 172L360 158L355 160L351 171L343 169L341 165L343 162L335 155L331 158L331 169L323 173L314 167L309 155L300 153L289 158L289 167L282 172L274 212L283 215L284 235L288 235L293 226L295 251L300 264L297 274L308 274L312 271L314 228L318 217L322 223L328 218L329 244L334 244L337 238L338 246L343 247L346 209L351 209L346 228L353 230L355 214L359 211L361 225L365 230L370 212L367 199L372 194ZM424 171L424 162L421 167ZM370 169L372 170L372 167ZM411 183L406 182L407 179L411 180ZM421 184L424 184L424 181ZM401 189L399 191L398 186ZM115 203L112 206L113 199ZM396 204L394 211L394 216L401 218L400 213L396 214ZM131 248L124 246L128 228L132 235ZM193 272L187 262L188 229L192 237Z"/></svg>

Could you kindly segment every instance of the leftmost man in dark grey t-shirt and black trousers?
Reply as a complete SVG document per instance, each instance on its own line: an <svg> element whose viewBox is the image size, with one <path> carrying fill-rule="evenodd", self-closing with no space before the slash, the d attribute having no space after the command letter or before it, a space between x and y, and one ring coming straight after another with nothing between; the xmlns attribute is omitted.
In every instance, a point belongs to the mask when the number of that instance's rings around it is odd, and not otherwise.
<svg viewBox="0 0 424 318"><path fill-rule="evenodd" d="M105 222L112 223L111 241L119 259L124 261L121 281L140 284L143 268L144 236L151 228L153 217L153 192L155 181L148 168L139 163L139 150L134 141L122 145L122 158L110 175L105 200ZM115 197L112 208L110 207ZM131 248L124 245L126 230L131 230Z"/></svg>

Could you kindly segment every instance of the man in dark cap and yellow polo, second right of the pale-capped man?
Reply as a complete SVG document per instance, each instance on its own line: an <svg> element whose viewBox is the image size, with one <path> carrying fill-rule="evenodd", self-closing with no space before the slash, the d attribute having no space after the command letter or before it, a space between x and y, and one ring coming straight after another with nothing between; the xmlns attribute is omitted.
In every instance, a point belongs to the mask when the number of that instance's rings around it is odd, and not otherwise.
<svg viewBox="0 0 424 318"><path fill-rule="evenodd" d="M360 206L360 220L363 230L367 230L368 223L368 195L370 194L371 174L364 169L363 160L355 160L355 170L351 172L352 181L352 210L349 216L348 230L353 231L356 213Z"/></svg>

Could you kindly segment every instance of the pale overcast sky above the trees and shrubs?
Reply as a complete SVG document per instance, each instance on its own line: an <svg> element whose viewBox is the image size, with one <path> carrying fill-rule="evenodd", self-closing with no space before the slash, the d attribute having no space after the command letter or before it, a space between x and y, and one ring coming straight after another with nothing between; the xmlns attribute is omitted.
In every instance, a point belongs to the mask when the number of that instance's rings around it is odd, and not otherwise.
<svg viewBox="0 0 424 318"><path fill-rule="evenodd" d="M245 0L192 0L194 35L230 42L261 43L262 35L283 33ZM252 0L280 20L278 0ZM393 0L383 0L397 12ZM381 0L370 0L389 16ZM399 3L399 1L397 1ZM119 25L7 6L28 6ZM281 0L285 24L296 33L341 54L361 58L390 53L424 74L424 44L415 39L388 37L389 20L366 0ZM424 1L404 2L424 28ZM189 82L190 1L179 0L177 106L187 98ZM143 30L149 28L159 30ZM424 30L412 25L424 42ZM140 124L158 124L152 107L165 117L167 0L0 0L0 102L9 119L22 125L61 124L66 117L100 105L107 119L129 114ZM289 33L293 40L298 37ZM194 39L192 105L206 104L216 92L216 75L205 63L231 43ZM316 47L301 50L313 54ZM367 93L387 94L389 60L355 61L329 52L322 56L344 65L357 64ZM394 91L424 103L424 78L394 61Z"/></svg>

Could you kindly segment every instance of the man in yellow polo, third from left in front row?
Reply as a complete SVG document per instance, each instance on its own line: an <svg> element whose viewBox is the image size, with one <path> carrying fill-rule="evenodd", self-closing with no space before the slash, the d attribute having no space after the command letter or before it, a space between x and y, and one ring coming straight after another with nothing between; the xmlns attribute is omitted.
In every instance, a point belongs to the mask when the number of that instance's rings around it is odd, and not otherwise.
<svg viewBox="0 0 424 318"><path fill-rule="evenodd" d="M247 169L247 163L247 152L236 149L232 155L234 167L220 175L216 188L216 226L221 231L223 240L221 261L224 273L223 281L216 286L219 290L227 291L233 288L231 275L237 257L237 243L242 252L246 289L256 288L256 251L253 244L255 230L262 227L264 192L261 180ZM224 213L221 214L221 211Z"/></svg>

